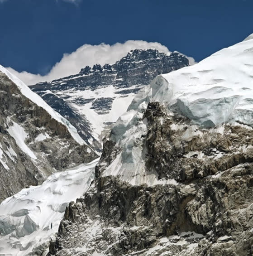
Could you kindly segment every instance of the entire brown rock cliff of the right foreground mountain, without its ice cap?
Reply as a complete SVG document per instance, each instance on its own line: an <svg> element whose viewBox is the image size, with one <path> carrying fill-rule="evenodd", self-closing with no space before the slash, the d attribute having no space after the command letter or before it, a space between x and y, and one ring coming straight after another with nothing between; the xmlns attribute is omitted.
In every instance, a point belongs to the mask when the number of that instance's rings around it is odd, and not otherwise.
<svg viewBox="0 0 253 256"><path fill-rule="evenodd" d="M121 151L108 138L96 179L66 209L51 254L251 256L252 128L204 129L157 102L143 119L145 171L162 184L103 175Z"/></svg>

